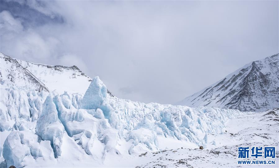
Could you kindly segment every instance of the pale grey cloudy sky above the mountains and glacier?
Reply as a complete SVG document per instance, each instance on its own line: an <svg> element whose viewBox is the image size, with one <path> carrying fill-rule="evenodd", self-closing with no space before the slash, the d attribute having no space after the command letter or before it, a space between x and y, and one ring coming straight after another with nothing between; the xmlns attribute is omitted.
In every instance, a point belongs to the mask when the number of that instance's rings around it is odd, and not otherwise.
<svg viewBox="0 0 279 168"><path fill-rule="evenodd" d="M173 104L278 53L278 1L0 1L0 51Z"/></svg>

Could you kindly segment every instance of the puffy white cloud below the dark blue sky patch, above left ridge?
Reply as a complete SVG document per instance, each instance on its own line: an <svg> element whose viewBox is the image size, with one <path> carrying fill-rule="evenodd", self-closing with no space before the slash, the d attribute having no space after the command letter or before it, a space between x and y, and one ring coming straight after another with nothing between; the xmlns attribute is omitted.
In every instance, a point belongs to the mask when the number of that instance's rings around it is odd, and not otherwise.
<svg viewBox="0 0 279 168"><path fill-rule="evenodd" d="M1 12L1 51L13 57L29 61L45 61L55 58L59 40L43 37L32 29L24 30L19 19L9 11Z"/></svg>

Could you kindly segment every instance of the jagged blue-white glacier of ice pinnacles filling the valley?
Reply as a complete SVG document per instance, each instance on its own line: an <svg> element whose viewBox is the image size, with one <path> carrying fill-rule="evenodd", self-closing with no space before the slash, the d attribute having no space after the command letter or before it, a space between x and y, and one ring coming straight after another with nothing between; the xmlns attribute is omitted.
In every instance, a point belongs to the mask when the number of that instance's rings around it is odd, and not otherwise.
<svg viewBox="0 0 279 168"><path fill-rule="evenodd" d="M222 133L227 120L249 113L124 100L108 96L98 76L84 94L2 83L0 130L8 135L1 151L7 167L73 159L102 165L112 156L196 148L207 134Z"/></svg>

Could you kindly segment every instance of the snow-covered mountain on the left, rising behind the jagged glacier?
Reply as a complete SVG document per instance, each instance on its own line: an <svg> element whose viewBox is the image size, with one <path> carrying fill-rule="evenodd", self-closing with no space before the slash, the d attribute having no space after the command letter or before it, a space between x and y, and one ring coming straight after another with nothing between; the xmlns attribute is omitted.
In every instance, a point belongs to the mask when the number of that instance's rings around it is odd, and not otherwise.
<svg viewBox="0 0 279 168"><path fill-rule="evenodd" d="M0 54L1 68L3 69L3 72L1 70L1 73L3 73L1 81L9 79L12 85L30 87L35 84L37 90L44 89L48 92L56 90L60 94L66 90L69 93L84 94L92 81L77 66L36 64ZM15 70L18 72L15 72ZM20 80L20 82L13 80ZM115 96L109 90L107 90L107 93L112 97Z"/></svg>

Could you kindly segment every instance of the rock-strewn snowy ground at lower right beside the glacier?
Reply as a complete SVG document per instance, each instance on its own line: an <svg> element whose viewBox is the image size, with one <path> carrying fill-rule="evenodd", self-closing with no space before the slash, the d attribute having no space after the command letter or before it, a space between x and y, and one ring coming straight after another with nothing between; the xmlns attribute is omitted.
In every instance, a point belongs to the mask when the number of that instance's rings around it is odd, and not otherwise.
<svg viewBox="0 0 279 168"><path fill-rule="evenodd" d="M270 113L274 111L274 113ZM238 116L225 123L222 134L205 134L208 142L199 148L171 148L147 152L137 158L137 167L278 167L279 109ZM247 123L247 124L244 124ZM243 125L244 124L244 125ZM275 146L275 165L238 165L237 147ZM248 160L252 160L250 157ZM260 160L270 160L260 158Z"/></svg>

